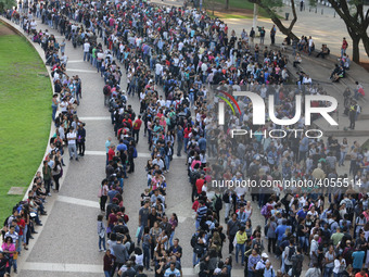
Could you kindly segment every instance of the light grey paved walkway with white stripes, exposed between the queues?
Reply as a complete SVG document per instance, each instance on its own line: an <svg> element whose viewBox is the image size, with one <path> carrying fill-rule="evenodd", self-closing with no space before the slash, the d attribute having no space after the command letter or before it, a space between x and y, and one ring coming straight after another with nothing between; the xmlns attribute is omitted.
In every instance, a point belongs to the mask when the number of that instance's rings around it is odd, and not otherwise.
<svg viewBox="0 0 369 277"><path fill-rule="evenodd" d="M38 27L49 29L62 39L54 29L38 22ZM98 252L97 216L100 214L97 197L101 180L105 177L105 149L107 137L114 138L110 113L103 104L103 79L89 63L82 61L81 48L74 49L66 45L68 55L67 74L78 74L82 80L82 100L78 106L78 116L86 122L86 155L79 162L68 163L67 151L64 160L68 166L59 194L49 199L43 217L43 227L35 236L29 251L24 252L18 263L18 276L102 276L103 253ZM127 86L125 77L122 87ZM162 91L161 91L162 93ZM138 113L139 100L130 97L128 103ZM150 156L147 138L141 133L138 144L136 173L125 180L124 205L130 217L128 227L135 236L138 224L140 194L147 188L147 174L143 171ZM113 142L117 142L113 139ZM187 180L184 159L174 159L170 174L167 175L167 214L176 212L179 228L176 237L183 248L183 274L192 276L192 248L190 238L194 231L192 218L191 187ZM237 273L237 272L234 272ZM239 272L241 274L241 272Z"/></svg>

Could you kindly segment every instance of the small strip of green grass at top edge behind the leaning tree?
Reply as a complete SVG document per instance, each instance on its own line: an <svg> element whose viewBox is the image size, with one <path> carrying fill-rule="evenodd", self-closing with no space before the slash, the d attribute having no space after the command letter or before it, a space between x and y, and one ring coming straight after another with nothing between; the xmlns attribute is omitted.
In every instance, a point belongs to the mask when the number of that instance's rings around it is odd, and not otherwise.
<svg viewBox="0 0 369 277"><path fill-rule="evenodd" d="M212 10L212 5L214 3L216 3L217 5L221 4L222 7L226 7L226 0L204 0L204 7L208 11ZM252 18L252 13L254 12L254 4L249 2L247 0L229 0L229 9L243 9L243 10L249 10L250 12L247 15L245 14L244 17L242 17L241 15L227 14L225 18L250 18L250 16ZM221 10L221 12L227 12L227 11L224 9ZM269 18L268 14L262 8L258 9L258 15Z"/></svg>

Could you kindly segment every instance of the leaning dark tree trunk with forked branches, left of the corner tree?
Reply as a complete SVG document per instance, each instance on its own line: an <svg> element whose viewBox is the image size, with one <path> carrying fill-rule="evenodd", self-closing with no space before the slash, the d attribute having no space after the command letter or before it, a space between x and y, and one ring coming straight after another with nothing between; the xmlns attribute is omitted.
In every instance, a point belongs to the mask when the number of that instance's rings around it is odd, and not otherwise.
<svg viewBox="0 0 369 277"><path fill-rule="evenodd" d="M284 24L281 22L277 14L277 8L280 8L283 5L282 0L249 0L249 2L258 4L260 8L263 8L267 14L270 16L270 20L277 25L279 30L284 34L285 36L290 37L291 39L297 38L295 34L293 34L292 28L297 22L297 13L295 9L295 0L291 1L291 10L293 18L290 22L290 26L284 26Z"/></svg>

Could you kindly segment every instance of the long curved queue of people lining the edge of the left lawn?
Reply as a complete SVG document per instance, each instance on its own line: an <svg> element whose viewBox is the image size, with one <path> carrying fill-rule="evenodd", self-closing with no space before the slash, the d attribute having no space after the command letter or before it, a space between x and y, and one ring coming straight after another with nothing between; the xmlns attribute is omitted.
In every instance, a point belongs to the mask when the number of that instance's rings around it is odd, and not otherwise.
<svg viewBox="0 0 369 277"><path fill-rule="evenodd" d="M10 20L16 24L34 22L34 14L18 16L17 13L8 13ZM21 18L24 20L21 22ZM13 207L12 215L3 224L0 252L0 276L10 276L12 268L17 273L17 259L21 252L28 250L33 235L37 234L36 226L42 226L40 217L47 215L44 204L51 192L58 193L60 179L63 177L64 147L68 148L71 160L78 161L85 152L86 129L85 124L77 117L77 105L81 98L81 80L78 76L69 77L66 74L65 43L59 43L48 29L36 30L36 23L31 28L25 29L35 43L39 43L44 51L46 65L50 66L54 86L52 96L52 121L55 133L49 141L49 150L42 161L42 169L37 172L27 199ZM37 39L36 39L37 38ZM58 110L60 112L58 113ZM79 150L79 151L78 151ZM78 153L79 152L79 153Z"/></svg>

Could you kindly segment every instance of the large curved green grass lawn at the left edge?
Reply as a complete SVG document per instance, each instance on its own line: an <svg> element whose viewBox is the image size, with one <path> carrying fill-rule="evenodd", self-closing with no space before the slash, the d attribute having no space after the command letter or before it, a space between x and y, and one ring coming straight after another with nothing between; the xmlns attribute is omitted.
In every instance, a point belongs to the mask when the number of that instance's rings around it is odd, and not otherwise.
<svg viewBox="0 0 369 277"><path fill-rule="evenodd" d="M8 196L10 187L26 191L48 143L52 87L40 72L47 72L43 62L24 37L0 36L1 226L23 198Z"/></svg>

